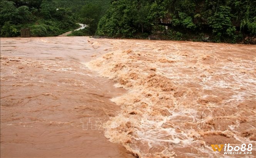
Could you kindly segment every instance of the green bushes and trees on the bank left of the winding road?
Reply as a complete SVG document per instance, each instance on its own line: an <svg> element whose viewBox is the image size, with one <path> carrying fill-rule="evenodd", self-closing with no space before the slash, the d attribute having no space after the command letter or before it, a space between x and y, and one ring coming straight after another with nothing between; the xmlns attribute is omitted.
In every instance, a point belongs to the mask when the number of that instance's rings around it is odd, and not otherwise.
<svg viewBox="0 0 256 158"><path fill-rule="evenodd" d="M30 28L32 36L57 36L79 27L69 8L54 6L53 1L0 1L1 37L16 37L21 28Z"/></svg>

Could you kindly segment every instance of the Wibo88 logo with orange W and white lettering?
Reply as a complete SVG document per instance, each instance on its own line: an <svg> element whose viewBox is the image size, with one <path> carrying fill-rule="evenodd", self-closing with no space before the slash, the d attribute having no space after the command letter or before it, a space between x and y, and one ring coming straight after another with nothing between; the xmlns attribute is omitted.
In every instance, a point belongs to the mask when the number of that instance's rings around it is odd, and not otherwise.
<svg viewBox="0 0 256 158"><path fill-rule="evenodd" d="M246 144L242 144L241 145L241 151L239 151L240 147L239 146L235 146L233 148L233 146L230 146L229 143L228 143L228 146L226 146L227 144L225 144L225 147L224 147L224 154L251 154L252 150L253 150L253 145L252 144L248 144L248 148L246 148ZM221 151L222 148L223 148L223 144L221 144L220 146L217 145L217 144L211 144L212 146L212 150L213 151ZM227 151L226 151L226 148L228 147Z"/></svg>

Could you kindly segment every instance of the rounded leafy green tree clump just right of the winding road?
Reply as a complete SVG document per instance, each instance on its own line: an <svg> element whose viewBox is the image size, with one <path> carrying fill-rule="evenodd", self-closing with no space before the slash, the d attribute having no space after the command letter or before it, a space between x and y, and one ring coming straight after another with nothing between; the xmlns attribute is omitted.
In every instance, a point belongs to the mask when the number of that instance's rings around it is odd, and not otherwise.
<svg viewBox="0 0 256 158"><path fill-rule="evenodd" d="M162 12L154 12L157 9L157 4L151 6L148 1L112 2L107 14L100 19L96 34L131 38L138 32L148 33L154 26L153 18L161 16Z"/></svg>

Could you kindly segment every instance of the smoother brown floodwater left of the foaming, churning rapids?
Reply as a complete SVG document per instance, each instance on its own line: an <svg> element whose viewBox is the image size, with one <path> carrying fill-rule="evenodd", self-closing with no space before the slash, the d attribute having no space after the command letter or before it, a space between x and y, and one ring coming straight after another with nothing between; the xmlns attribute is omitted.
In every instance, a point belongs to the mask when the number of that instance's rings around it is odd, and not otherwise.
<svg viewBox="0 0 256 158"><path fill-rule="evenodd" d="M1 157L132 157L82 128L117 115L109 99L125 93L83 65L96 52L87 38L1 38Z"/></svg>

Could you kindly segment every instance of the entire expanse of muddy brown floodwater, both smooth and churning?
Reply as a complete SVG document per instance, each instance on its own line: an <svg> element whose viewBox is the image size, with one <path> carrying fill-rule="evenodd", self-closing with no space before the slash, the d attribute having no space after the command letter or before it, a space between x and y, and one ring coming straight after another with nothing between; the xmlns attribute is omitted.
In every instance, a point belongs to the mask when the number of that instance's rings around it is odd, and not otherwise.
<svg viewBox="0 0 256 158"><path fill-rule="evenodd" d="M254 157L256 46L1 38L0 101L1 157Z"/></svg>

